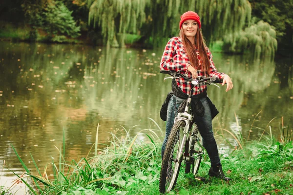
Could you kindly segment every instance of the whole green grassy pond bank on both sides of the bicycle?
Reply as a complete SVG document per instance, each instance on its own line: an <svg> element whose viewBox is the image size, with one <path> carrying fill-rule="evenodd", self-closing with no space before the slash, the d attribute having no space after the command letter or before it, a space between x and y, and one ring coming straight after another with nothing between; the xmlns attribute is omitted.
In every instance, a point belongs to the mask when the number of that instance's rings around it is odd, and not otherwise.
<svg viewBox="0 0 293 195"><path fill-rule="evenodd" d="M72 160L71 163L55 162L54 164L53 160L43 169L43 173L40 169L39 174L30 173L21 161L21 157L17 155L27 175L31 174L36 185L32 185L32 182L26 183L27 176L19 177L35 195L39 192L49 195L159 194L161 169L161 143L157 141L159 137L152 130L142 131L133 138L129 137L127 131L125 135L116 137L112 134L110 146L100 151L95 148L96 155L93 157L86 156L80 161ZM139 141L137 137L142 135L146 136L146 140ZM279 141L273 137L263 137L259 143L241 142L241 146L243 149L236 146L222 151L223 169L226 175L232 178L230 182L208 176L210 162L205 156L199 176L206 177L206 181L200 182L191 174L184 174L182 166L177 185L169 194L290 195L292 193L291 135L286 139L281 137ZM60 147L60 162L64 162L64 149L64 146ZM32 161L35 163L33 158ZM50 164L53 164L52 169L49 168ZM36 168L39 170L37 164ZM5 191L2 193L5 194Z"/></svg>

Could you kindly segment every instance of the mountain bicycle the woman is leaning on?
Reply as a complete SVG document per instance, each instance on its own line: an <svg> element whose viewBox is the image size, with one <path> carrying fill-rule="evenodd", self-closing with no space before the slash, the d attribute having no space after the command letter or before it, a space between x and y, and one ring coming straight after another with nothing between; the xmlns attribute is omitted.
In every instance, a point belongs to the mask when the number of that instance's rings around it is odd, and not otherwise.
<svg viewBox="0 0 293 195"><path fill-rule="evenodd" d="M209 85L215 85L220 88L214 83L222 82L217 78L186 78L177 72L167 72L167 74L171 75L172 77L164 78L164 80L168 78L176 79L183 77L186 79L186 82L192 83L192 89L200 82L206 82ZM179 77L177 75L179 75ZM175 117L174 125L168 137L160 174L161 193L166 193L166 191L169 192L175 187L183 160L185 160L186 164L185 173L190 173L192 165L192 174L195 176L195 179L201 181L205 180L204 177L196 176L199 170L202 156L204 155L204 147L202 146L203 140L196 123L194 122L192 124L193 116L191 115L190 108L190 94L188 95L184 112L178 113L177 117Z"/></svg>

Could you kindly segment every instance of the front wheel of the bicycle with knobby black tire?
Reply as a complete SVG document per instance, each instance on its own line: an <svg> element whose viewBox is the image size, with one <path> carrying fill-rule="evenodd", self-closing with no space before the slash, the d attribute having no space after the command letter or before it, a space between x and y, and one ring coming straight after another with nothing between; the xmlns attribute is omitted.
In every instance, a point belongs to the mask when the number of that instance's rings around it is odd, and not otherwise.
<svg viewBox="0 0 293 195"><path fill-rule="evenodd" d="M173 156L177 156L178 149L175 152L176 154L174 154L174 148L176 144L179 142L178 140L180 138L180 128L184 128L185 125L186 123L183 120L176 121L168 137L165 153L162 160L160 186L159 186L160 193L166 193L166 191L169 192L176 185L176 181L177 181L180 167L181 167L182 157L181 159L179 159L178 162L174 162L174 160L172 160L171 158ZM179 148L179 143L178 143L178 148ZM180 156L182 155L183 154L180 154ZM172 168L172 164L174 164L174 168Z"/></svg>

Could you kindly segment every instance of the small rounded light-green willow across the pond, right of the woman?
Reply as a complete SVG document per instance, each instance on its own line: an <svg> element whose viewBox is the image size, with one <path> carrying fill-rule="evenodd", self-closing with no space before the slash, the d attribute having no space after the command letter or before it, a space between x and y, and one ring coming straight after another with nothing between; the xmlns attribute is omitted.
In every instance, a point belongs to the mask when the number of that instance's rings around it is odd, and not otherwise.
<svg viewBox="0 0 293 195"><path fill-rule="evenodd" d="M273 57L277 50L276 32L269 23L260 20L234 37L225 36L223 46L225 51L230 53L243 54L245 51L249 51L256 58Z"/></svg>

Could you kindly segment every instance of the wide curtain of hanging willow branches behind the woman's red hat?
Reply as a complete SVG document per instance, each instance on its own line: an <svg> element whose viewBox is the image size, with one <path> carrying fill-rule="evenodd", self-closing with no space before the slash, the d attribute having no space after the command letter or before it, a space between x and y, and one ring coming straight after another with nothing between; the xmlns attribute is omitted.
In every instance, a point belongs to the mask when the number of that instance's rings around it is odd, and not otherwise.
<svg viewBox="0 0 293 195"><path fill-rule="evenodd" d="M126 33L152 38L178 35L180 16L192 10L199 14L206 39L212 42L243 29L251 19L248 0L87 0L89 24L99 26L105 43L124 46ZM118 39L117 39L118 38Z"/></svg>

